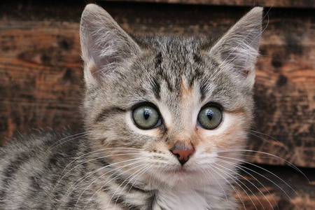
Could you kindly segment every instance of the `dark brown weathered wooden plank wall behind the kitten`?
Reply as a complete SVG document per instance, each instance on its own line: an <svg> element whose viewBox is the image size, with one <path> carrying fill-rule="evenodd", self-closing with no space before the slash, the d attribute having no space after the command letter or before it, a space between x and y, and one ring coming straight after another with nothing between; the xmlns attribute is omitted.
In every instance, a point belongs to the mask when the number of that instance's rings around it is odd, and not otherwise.
<svg viewBox="0 0 315 210"><path fill-rule="evenodd" d="M246 173L243 176L248 188L243 186L239 193L247 209L253 209L251 199L258 209L263 209L262 205L272 209L267 201L275 209L276 204L279 209L314 209L315 1L136 1L97 3L123 29L137 36L222 34L251 7L266 7L265 12L269 12L264 19L262 56L256 71L257 123L248 148L293 163L310 182L291 167L283 166L282 160L250 153L248 162L280 174L279 178L297 193L270 173L265 176L279 186L266 179L262 184L272 196L260 186L265 194L262 196L246 179L257 186L260 183ZM86 3L11 0L0 4L0 144L18 132L32 129L80 130L83 63L78 29ZM257 170L251 165L246 167ZM257 179L262 181L258 175Z"/></svg>

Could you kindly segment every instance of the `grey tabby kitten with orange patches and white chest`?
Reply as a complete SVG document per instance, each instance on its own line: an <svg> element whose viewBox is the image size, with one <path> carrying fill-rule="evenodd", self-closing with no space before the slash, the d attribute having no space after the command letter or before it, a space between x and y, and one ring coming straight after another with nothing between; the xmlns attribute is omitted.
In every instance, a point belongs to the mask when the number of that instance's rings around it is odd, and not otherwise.
<svg viewBox="0 0 315 210"><path fill-rule="evenodd" d="M261 25L256 7L216 41L136 39L87 5L85 132L0 148L0 209L237 209Z"/></svg>

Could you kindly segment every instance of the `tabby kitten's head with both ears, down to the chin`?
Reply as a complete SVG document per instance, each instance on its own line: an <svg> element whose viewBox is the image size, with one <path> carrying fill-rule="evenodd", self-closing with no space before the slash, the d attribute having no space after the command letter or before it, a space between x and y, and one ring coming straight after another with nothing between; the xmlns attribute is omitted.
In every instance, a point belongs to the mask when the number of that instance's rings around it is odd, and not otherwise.
<svg viewBox="0 0 315 210"><path fill-rule="evenodd" d="M126 174L174 186L225 176L253 121L261 25L257 7L216 41L136 39L87 5L85 125L95 149L104 149L99 155Z"/></svg>

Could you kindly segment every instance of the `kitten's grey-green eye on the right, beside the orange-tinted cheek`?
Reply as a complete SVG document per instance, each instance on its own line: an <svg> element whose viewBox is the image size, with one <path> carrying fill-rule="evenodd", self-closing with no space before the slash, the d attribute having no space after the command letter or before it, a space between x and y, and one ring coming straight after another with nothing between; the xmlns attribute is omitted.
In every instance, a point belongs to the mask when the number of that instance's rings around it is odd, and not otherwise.
<svg viewBox="0 0 315 210"><path fill-rule="evenodd" d="M205 106L198 114L197 119L204 129L212 130L220 125L222 121L222 112L216 106Z"/></svg>

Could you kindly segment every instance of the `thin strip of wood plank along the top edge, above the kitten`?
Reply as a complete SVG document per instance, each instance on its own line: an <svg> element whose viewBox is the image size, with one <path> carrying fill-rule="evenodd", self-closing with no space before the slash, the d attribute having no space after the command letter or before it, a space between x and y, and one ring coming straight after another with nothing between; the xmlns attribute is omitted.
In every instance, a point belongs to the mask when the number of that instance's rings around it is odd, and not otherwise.
<svg viewBox="0 0 315 210"><path fill-rule="evenodd" d="M105 0L102 0L105 1ZM106 0L117 1L117 0ZM126 0L118 0L126 1ZM315 8L315 1L292 1L292 0L129 0L135 2L154 2L154 3L185 3L216 6L265 6L265 7L284 7L284 8Z"/></svg>

